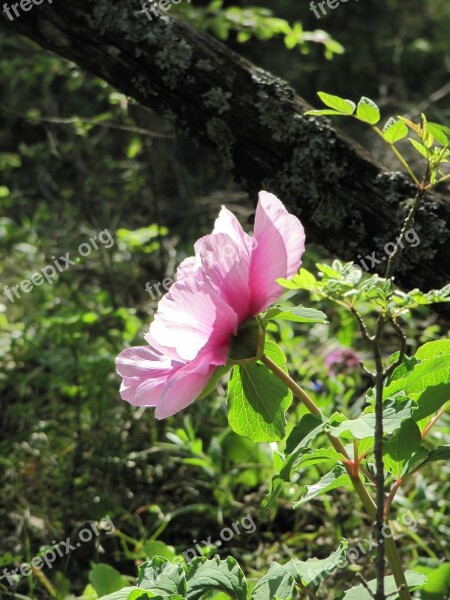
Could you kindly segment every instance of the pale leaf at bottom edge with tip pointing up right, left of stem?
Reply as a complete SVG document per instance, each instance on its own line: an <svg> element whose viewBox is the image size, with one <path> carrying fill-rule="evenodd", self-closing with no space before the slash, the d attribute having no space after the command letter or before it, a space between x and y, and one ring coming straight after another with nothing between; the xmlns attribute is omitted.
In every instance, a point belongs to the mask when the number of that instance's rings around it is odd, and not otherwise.
<svg viewBox="0 0 450 600"><path fill-rule="evenodd" d="M342 539L339 548L328 558L309 558L306 561L293 558L285 565L285 569L292 574L298 584L316 590L324 579L347 562L345 559L347 550L348 542Z"/></svg>

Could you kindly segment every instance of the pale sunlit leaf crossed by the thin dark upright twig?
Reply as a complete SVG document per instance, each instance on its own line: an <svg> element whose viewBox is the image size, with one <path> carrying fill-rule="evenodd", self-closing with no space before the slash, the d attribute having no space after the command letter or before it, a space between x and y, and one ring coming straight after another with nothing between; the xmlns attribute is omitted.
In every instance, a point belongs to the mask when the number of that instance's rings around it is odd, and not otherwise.
<svg viewBox="0 0 450 600"><path fill-rule="evenodd" d="M412 402L386 402L383 410L383 428L385 434L394 433L400 428L403 421L411 417ZM366 412L357 419L343 421L335 427L330 427L329 432L335 437L350 432L357 440L373 437L375 434L375 413Z"/></svg>

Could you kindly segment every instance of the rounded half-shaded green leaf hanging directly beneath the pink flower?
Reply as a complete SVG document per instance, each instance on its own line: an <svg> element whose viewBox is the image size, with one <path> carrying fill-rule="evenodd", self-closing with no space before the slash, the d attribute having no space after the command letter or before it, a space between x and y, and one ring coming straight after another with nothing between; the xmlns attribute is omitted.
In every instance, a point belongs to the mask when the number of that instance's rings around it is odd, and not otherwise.
<svg viewBox="0 0 450 600"><path fill-rule="evenodd" d="M234 367L228 384L231 429L254 442L275 442L285 435L285 413L292 392L260 362Z"/></svg>

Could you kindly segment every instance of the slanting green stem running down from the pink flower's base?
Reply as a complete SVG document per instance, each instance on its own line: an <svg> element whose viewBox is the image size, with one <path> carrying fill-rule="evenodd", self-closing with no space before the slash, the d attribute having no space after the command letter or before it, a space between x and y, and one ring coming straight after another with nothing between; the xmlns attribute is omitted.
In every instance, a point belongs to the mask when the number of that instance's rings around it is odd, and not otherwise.
<svg viewBox="0 0 450 600"><path fill-rule="evenodd" d="M308 394L297 383L295 383L295 381L291 379L291 377L285 371L283 371L281 367L274 363L273 360L271 360L265 354L262 355L260 360L268 369L272 371L274 375L278 377L280 381L282 381L292 391L292 393L295 396L297 396L299 400L303 402L303 404L306 406L310 413L312 413L313 415L323 416L322 411L314 402L314 400L312 400L308 396ZM329 433L327 433L327 436L336 452L339 452L344 456L344 458L348 460L349 456L342 442ZM347 473L350 476L353 487L355 488L355 491L358 494L367 514L372 519L372 521L374 521L376 519L377 508L375 502L373 501L373 498L367 491L366 486L361 480L359 474L355 477L355 473L351 465L347 464L346 462L343 462L343 464L347 470ZM384 538L384 547L386 550L386 556L389 561L392 574L395 579L395 583L397 584L397 588L399 590L398 594L400 600L411 600L411 594L409 593L408 584L406 583L402 563L394 540L388 537Z"/></svg>

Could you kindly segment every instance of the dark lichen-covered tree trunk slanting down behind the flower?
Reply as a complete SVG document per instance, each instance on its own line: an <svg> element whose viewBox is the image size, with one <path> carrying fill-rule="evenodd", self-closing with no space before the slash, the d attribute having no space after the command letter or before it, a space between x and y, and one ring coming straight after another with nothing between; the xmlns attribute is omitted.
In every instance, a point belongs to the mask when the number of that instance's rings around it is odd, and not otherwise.
<svg viewBox="0 0 450 600"><path fill-rule="evenodd" d="M75 61L211 147L251 193L270 190L302 219L309 240L345 260L383 255L414 188L386 173L285 82L170 16L150 22L140 0L44 1L0 23ZM430 196L421 243L405 249L399 282L422 290L450 277L450 204ZM369 263L370 264L370 263ZM381 265L381 268L384 264Z"/></svg>

